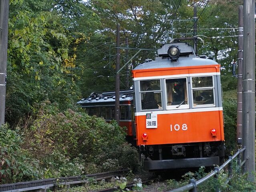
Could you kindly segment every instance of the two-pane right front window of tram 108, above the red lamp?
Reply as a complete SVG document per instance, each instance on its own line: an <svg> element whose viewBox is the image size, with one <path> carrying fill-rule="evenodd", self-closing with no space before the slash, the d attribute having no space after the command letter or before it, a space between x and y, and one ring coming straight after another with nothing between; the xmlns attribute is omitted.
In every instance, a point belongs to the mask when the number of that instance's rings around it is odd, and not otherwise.
<svg viewBox="0 0 256 192"><path fill-rule="evenodd" d="M213 76L192 77L193 106L214 106Z"/></svg>

